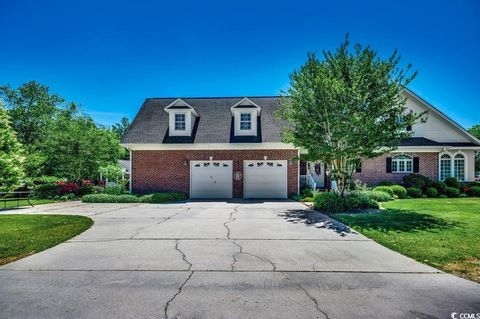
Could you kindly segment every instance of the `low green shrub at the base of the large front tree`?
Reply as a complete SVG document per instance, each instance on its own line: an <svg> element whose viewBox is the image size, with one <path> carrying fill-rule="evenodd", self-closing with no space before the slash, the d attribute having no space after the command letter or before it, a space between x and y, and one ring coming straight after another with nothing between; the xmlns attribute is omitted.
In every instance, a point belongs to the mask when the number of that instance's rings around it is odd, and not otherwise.
<svg viewBox="0 0 480 319"><path fill-rule="evenodd" d="M379 208L378 203L362 193L349 193L340 196L334 192L323 192L314 197L314 207L327 214Z"/></svg>

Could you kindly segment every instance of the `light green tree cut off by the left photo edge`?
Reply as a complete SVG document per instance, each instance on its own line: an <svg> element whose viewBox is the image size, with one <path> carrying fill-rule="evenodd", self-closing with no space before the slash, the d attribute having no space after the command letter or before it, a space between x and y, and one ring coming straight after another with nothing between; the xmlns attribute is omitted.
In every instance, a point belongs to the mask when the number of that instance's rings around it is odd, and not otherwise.
<svg viewBox="0 0 480 319"><path fill-rule="evenodd" d="M10 191L18 186L23 174L20 143L10 126L7 111L0 101L0 190Z"/></svg>

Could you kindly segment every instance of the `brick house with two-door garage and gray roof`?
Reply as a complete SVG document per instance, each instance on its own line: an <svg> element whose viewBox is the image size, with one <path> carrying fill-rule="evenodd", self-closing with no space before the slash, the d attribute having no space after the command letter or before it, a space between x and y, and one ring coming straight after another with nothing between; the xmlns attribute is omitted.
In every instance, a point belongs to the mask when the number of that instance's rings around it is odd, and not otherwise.
<svg viewBox="0 0 480 319"><path fill-rule="evenodd" d="M474 179L480 141L409 90L407 108L427 111L394 152L364 160L355 178L369 185L410 173ZM298 161L281 140L279 97L149 98L122 145L130 150L130 190L181 191L191 198L286 198L301 185L326 187L322 163Z"/></svg>

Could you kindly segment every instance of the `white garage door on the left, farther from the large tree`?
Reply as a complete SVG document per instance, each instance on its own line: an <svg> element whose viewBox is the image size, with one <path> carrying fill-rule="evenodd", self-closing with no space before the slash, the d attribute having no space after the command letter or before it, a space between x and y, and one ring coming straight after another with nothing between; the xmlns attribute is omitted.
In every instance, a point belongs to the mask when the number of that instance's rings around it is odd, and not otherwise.
<svg viewBox="0 0 480 319"><path fill-rule="evenodd" d="M232 161L191 161L191 198L232 198Z"/></svg>

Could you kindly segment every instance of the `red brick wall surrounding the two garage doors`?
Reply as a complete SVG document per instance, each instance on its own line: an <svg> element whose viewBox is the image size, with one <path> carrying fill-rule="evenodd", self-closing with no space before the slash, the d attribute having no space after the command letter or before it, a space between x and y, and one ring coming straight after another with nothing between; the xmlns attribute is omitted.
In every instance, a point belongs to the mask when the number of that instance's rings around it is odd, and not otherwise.
<svg viewBox="0 0 480 319"><path fill-rule="evenodd" d="M132 191L148 193L155 191L190 192L190 161L232 160L233 173L243 174L244 160L290 160L297 150L202 150L202 151L132 151ZM298 162L288 163L288 194L297 193ZM233 179L233 197L243 197L242 180Z"/></svg>

